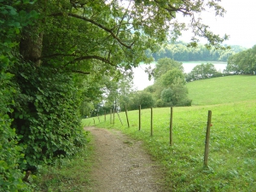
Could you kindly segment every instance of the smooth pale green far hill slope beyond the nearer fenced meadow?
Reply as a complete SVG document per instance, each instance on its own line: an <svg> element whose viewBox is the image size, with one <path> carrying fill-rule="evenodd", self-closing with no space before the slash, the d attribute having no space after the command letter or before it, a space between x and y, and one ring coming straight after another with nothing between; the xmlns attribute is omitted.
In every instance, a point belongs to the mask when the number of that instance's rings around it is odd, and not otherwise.
<svg viewBox="0 0 256 192"><path fill-rule="evenodd" d="M256 99L256 75L203 79L187 84L192 105L214 105Z"/></svg>

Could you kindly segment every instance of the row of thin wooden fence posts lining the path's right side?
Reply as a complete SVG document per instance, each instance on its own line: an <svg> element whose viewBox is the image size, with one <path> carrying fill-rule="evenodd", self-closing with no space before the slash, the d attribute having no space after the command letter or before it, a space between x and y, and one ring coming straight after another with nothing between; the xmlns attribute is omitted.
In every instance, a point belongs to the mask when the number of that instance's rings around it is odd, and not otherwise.
<svg viewBox="0 0 256 192"><path fill-rule="evenodd" d="M141 116L142 116L141 114L142 113L141 113L141 110L142 110L142 108L141 108L141 106L139 106L139 125L138 125L138 131L141 131L141 127L142 127L142 120L141 120ZM153 108L150 108L150 112L151 112L150 113L151 114L150 136L153 137ZM114 124L114 113L115 113L115 110L113 109L113 111L112 111L112 109L110 109L110 124ZM118 112L116 112L116 113L117 113L117 115L119 117L119 113ZM106 113L105 113L104 116L105 116L104 119L106 121ZM125 116L126 116L126 120L127 120L127 125L128 125L128 127L130 127L126 106L125 106ZM112 119L112 117L113 117L113 119ZM169 143L170 146L172 146L172 143L173 143L173 141L172 141L172 117L173 117L173 108L171 107L171 115L170 115L170 143ZM98 116L98 119L99 119L99 122L101 122L99 116ZM120 120L121 125L123 125L122 120L120 119L120 117L119 117L119 120ZM94 121L94 125L96 125L95 124L95 119L93 119L93 121ZM211 125L212 125L211 121L212 121L212 111L209 110L208 111L208 117L207 117L207 132L206 132L205 154L204 154L204 166L206 166L206 167L208 166L208 157L209 157L210 128L211 128Z"/></svg>

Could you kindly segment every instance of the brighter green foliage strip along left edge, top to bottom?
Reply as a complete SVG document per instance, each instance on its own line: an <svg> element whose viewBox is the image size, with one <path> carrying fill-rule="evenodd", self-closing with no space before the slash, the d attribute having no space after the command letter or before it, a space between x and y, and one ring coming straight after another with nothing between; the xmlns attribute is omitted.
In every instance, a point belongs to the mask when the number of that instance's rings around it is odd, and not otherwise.
<svg viewBox="0 0 256 192"><path fill-rule="evenodd" d="M7 69L14 65L15 54L13 49L17 45L16 37L22 26L32 22L37 14L33 11L25 13L17 11L20 1L0 1L0 191L28 191L26 184L22 182L22 169L18 161L22 161L23 148L17 143L15 129L11 126L13 119L9 113L13 113L16 90L10 79L13 77ZM24 1L23 6L29 2ZM24 162L26 163L26 161Z"/></svg>

